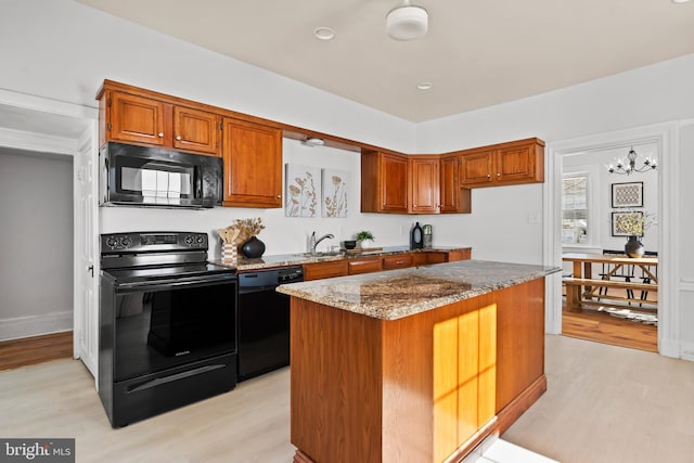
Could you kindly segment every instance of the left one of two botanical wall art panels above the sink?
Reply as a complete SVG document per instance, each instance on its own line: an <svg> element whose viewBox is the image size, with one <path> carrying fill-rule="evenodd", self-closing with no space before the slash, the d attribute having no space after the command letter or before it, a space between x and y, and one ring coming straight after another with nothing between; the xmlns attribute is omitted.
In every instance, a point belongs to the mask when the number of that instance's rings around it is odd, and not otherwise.
<svg viewBox="0 0 694 463"><path fill-rule="evenodd" d="M286 217L316 217L320 189L320 168L286 164Z"/></svg>

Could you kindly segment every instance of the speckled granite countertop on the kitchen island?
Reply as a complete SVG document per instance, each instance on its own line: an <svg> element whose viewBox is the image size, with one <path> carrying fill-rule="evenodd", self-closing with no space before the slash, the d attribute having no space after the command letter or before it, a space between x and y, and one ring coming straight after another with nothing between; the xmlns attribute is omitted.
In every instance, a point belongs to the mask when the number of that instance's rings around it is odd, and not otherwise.
<svg viewBox="0 0 694 463"><path fill-rule="evenodd" d="M461 260L278 287L313 303L397 320L561 271L558 267Z"/></svg>

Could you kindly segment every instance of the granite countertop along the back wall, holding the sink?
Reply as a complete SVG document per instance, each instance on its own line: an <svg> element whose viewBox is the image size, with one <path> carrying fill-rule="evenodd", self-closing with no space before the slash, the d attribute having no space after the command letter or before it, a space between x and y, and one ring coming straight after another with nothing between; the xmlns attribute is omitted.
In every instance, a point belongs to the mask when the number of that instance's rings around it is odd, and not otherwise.
<svg viewBox="0 0 694 463"><path fill-rule="evenodd" d="M287 266L301 266L304 263L316 263L316 262L329 262L331 260L343 260L343 259L358 259L370 256L387 256L387 255L396 255L396 254L406 254L406 253L435 253L435 252L450 252L458 249L468 249L470 246L437 246L428 249L410 249L408 246L389 246L384 247L378 250L368 250L363 253L352 253L349 252L347 254L337 254L335 256L320 256L312 257L307 256L304 253L297 254L278 254L270 256L262 256L256 259L248 259L246 257L240 256L236 263L227 263L221 259L210 260L211 263L216 263L218 266L224 266L230 268L235 268L237 271L249 271L249 270L262 270L262 269L271 269L278 267L287 267Z"/></svg>

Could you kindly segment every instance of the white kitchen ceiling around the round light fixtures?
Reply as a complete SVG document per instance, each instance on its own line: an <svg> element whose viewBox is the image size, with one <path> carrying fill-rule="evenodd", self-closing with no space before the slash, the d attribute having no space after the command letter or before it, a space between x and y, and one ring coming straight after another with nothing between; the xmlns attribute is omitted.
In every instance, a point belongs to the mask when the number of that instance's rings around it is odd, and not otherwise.
<svg viewBox="0 0 694 463"><path fill-rule="evenodd" d="M407 42L385 33L401 0L77 1L411 121L694 53L694 1L421 0Z"/></svg>

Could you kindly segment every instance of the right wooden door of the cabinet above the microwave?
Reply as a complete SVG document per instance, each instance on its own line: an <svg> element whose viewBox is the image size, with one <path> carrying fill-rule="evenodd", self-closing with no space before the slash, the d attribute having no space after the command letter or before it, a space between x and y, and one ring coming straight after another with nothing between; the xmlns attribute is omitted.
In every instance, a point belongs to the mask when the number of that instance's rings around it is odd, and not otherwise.
<svg viewBox="0 0 694 463"><path fill-rule="evenodd" d="M219 155L219 118L206 111L174 106L174 147Z"/></svg>

